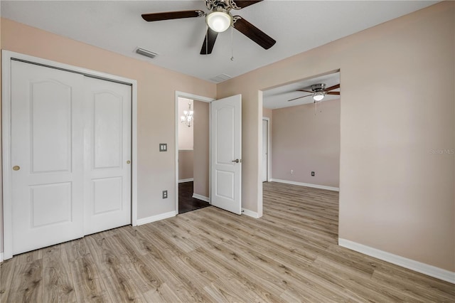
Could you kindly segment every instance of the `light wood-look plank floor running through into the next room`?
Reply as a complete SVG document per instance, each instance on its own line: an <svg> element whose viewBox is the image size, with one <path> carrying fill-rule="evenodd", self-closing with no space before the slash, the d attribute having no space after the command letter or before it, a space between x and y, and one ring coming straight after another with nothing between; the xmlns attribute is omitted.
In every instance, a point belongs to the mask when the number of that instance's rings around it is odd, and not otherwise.
<svg viewBox="0 0 455 303"><path fill-rule="evenodd" d="M1 302L455 302L448 282L337 245L338 193L264 184L264 216L213 206L17 255Z"/></svg>

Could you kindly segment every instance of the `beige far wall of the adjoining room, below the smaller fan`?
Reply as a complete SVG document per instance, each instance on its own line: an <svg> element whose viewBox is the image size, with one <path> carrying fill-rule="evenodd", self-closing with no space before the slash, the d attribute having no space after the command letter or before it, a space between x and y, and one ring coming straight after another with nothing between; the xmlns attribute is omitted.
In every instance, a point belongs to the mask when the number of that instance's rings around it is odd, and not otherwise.
<svg viewBox="0 0 455 303"><path fill-rule="evenodd" d="M339 186L340 100L323 101L317 110L313 103L273 110L273 179Z"/></svg>

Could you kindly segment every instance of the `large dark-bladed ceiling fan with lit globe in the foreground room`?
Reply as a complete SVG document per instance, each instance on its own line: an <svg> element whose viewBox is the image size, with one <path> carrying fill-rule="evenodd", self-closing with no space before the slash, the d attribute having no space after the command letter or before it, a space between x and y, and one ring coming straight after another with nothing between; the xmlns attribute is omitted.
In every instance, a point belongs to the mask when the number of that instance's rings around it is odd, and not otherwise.
<svg viewBox="0 0 455 303"><path fill-rule="evenodd" d="M262 46L264 49L269 49L277 41L274 41L273 38L267 36L266 33L261 31L252 23L246 21L241 16L232 16L230 11L232 9L238 10L243 9L257 2L256 1L242 1L242 0L205 0L205 6L210 10L210 12L205 13L204 11L194 10L194 11L168 11L163 13L151 13L151 14L142 14L142 18L145 21L162 21L170 19L179 19L179 18L196 18L205 16L205 21L207 22L208 29L205 35L203 46L200 49L201 55L208 55L212 53L213 46L215 45L216 37L218 33L226 31L230 26L235 28L240 33L243 33L245 36L250 38L255 43Z"/></svg>

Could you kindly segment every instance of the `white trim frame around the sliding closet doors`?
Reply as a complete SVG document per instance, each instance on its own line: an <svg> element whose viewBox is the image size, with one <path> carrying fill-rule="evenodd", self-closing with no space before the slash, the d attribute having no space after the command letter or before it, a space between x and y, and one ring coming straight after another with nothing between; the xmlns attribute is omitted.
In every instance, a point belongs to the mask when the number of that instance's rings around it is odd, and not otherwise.
<svg viewBox="0 0 455 303"><path fill-rule="evenodd" d="M3 182L3 240L4 259L13 256L13 223L11 207L11 60L44 65L50 68L80 73L94 78L132 85L132 225L137 225L137 80L109 75L107 73L79 68L21 53L1 50L1 136L2 136L2 182ZM0 188L1 190L1 188ZM1 192L0 192L1 193Z"/></svg>

